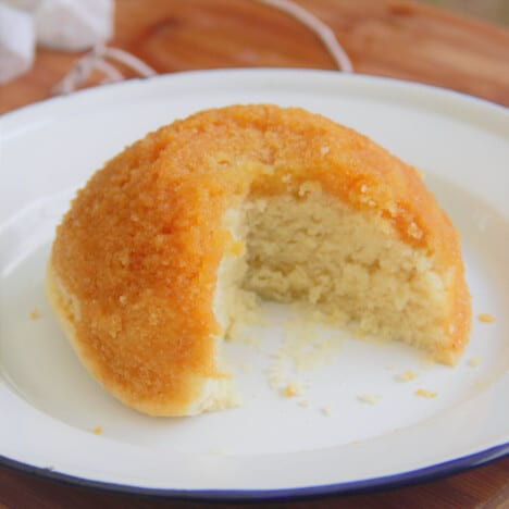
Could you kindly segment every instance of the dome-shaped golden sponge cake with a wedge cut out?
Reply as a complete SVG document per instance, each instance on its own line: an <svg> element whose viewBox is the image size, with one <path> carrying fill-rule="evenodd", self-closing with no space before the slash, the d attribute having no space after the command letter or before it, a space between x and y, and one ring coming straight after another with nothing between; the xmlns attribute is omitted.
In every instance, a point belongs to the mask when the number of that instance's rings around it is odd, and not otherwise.
<svg viewBox="0 0 509 509"><path fill-rule="evenodd" d="M301 109L234 105L126 148L77 194L47 270L51 305L124 404L237 404L222 340L258 295L454 364L471 310L458 234L417 171Z"/></svg>

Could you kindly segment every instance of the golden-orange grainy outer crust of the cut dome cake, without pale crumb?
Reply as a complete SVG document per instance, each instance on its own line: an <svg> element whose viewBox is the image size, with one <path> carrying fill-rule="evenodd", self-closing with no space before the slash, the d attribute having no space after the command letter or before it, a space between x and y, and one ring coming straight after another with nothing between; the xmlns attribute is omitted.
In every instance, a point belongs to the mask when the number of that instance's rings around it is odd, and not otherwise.
<svg viewBox="0 0 509 509"><path fill-rule="evenodd" d="M141 411L186 413L203 381L224 376L212 311L232 243L223 213L248 196L298 193L309 181L384 218L448 272L450 340L436 358L454 363L468 337L470 296L458 234L417 171L323 116L237 105L174 122L126 148L90 178L58 227L48 270L79 305L69 328L100 383Z"/></svg>

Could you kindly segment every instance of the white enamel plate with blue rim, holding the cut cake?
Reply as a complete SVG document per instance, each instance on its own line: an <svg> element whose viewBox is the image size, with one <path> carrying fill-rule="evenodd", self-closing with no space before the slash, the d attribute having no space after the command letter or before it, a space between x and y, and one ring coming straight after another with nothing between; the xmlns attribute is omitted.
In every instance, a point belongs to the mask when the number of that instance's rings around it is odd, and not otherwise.
<svg viewBox="0 0 509 509"><path fill-rule="evenodd" d="M461 232L472 293L471 342L456 368L430 363L405 345L343 335L327 362L299 372L283 367L286 382L301 384L300 395L285 397L270 386L268 371L274 370L271 352L288 335L289 311L268 306L268 325L254 331L259 340L224 347L244 394L238 409L149 418L89 378L53 320L42 284L70 198L148 131L240 102L323 113L424 172ZM400 485L509 452L508 110L367 76L214 71L49 100L4 115L1 128L4 464L124 492L261 499ZM477 320L480 313L495 322Z"/></svg>

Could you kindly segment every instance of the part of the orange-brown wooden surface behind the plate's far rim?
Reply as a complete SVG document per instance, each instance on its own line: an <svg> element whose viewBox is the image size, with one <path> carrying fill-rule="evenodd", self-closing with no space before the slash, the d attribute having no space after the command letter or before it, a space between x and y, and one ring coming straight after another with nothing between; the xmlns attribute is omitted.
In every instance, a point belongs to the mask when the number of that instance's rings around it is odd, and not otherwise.
<svg viewBox="0 0 509 509"><path fill-rule="evenodd" d="M335 32L356 72L452 88L509 104L509 32L408 1L300 0ZM213 67L334 69L306 27L256 0L117 0L111 46L159 73ZM38 50L0 86L0 113L46 99L77 55Z"/></svg>

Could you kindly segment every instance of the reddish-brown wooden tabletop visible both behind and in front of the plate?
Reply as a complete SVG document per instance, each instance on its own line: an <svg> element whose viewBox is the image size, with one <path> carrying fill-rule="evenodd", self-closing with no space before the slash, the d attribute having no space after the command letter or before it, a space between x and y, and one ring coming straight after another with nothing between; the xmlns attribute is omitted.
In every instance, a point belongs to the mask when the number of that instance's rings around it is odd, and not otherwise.
<svg viewBox="0 0 509 509"><path fill-rule="evenodd" d="M408 1L298 1L330 24L359 73L429 83L509 105L509 32L501 27ZM117 0L111 46L138 55L160 73L252 66L334 69L313 34L253 0ZM76 58L39 50L29 73L0 86L0 113L47 98ZM0 468L0 508L3 505L202 507L95 492ZM290 507L509 508L509 458L421 485L296 501Z"/></svg>

